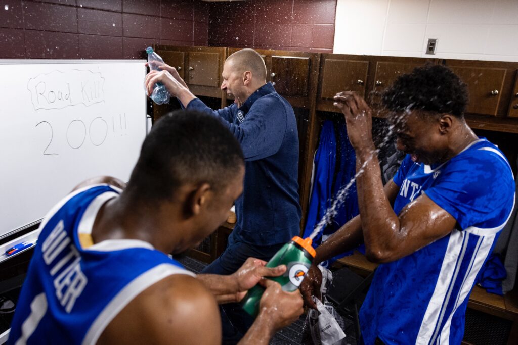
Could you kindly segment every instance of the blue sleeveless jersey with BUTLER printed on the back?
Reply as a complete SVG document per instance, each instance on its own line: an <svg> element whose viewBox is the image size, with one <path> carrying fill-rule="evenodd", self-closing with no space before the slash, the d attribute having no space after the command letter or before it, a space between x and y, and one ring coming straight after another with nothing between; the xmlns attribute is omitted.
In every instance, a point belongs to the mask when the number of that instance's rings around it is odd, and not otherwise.
<svg viewBox="0 0 518 345"><path fill-rule="evenodd" d="M190 274L178 262L135 239L83 248L99 208L119 190L95 185L70 194L42 221L23 284L9 343L95 344L117 314L152 284Z"/></svg>

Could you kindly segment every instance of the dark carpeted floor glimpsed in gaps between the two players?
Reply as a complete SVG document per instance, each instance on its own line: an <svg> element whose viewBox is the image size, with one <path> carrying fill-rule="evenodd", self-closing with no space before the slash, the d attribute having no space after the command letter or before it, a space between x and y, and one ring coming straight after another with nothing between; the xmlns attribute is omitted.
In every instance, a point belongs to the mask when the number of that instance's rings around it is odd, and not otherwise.
<svg viewBox="0 0 518 345"><path fill-rule="evenodd" d="M202 269L207 265L202 261L198 261L189 257L183 257L181 259L177 259L185 268L189 269L194 273L199 273ZM302 328L304 326L304 320L306 319L306 315L303 314L297 321L292 323L290 326L287 326L281 329L277 334L271 339L270 345L297 345L300 344L300 340L302 339ZM352 327L352 323L350 325ZM346 330L347 331L347 330ZM354 339L354 334L346 332L347 335L347 345L356 345L356 340Z"/></svg>

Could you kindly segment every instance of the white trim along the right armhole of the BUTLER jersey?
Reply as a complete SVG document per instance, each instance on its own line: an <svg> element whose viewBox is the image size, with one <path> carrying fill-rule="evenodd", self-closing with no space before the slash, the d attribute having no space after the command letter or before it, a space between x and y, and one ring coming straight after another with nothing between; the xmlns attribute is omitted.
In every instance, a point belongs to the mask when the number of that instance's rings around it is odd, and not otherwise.
<svg viewBox="0 0 518 345"><path fill-rule="evenodd" d="M193 277L196 276L194 273L172 264L160 264L151 268L149 271L142 273L140 276L133 279L131 283L127 284L124 289L119 291L119 293L110 301L110 303L106 305L106 307L97 316L95 321L88 329L82 344L95 344L106 326L108 326L111 320L113 320L113 318L116 317L117 314L128 303L130 303L133 298L152 286L154 283L173 274L186 274Z"/></svg>

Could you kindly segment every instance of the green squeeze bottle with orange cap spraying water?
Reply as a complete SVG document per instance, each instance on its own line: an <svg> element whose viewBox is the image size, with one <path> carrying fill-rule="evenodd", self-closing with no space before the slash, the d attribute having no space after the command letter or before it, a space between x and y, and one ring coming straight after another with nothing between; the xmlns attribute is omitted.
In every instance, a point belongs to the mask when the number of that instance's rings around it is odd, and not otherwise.
<svg viewBox="0 0 518 345"><path fill-rule="evenodd" d="M286 272L282 276L267 277L267 279L277 281L284 291L291 292L298 289L315 258L316 252L311 247L311 242L309 237L305 239L298 236L293 237L266 264L266 267L284 264L286 265ZM241 301L241 307L254 318L259 313L259 301L263 292L264 288L257 284L248 291Z"/></svg>

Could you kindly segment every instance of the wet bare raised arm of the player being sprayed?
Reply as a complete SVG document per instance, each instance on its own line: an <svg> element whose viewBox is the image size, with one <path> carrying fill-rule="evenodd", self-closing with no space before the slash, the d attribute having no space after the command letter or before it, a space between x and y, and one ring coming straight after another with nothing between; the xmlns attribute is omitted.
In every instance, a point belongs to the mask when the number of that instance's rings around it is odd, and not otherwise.
<svg viewBox="0 0 518 345"><path fill-rule="evenodd" d="M346 117L349 140L356 152L356 180L361 227L367 258L390 262L449 234L455 218L425 194L405 206L399 215L383 191L380 165L372 142L372 115L365 100L353 92L335 97Z"/></svg>

